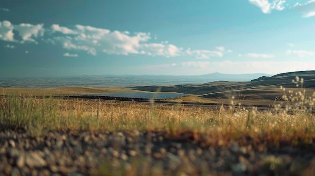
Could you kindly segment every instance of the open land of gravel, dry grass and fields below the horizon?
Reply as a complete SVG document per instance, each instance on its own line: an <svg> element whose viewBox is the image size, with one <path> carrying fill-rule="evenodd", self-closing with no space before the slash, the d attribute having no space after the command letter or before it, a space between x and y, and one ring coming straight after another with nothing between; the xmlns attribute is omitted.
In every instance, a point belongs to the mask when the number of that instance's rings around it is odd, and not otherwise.
<svg viewBox="0 0 315 176"><path fill-rule="evenodd" d="M295 76L293 86L260 81L263 86L0 88L0 172L314 175L315 95L311 79ZM164 100L173 104L60 97L151 90L189 95Z"/></svg>

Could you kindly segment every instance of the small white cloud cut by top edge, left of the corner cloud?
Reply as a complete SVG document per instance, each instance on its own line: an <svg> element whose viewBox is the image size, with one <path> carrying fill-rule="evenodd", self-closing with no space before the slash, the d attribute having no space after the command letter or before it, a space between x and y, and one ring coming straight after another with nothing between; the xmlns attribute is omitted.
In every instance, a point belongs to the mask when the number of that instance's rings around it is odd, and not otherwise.
<svg viewBox="0 0 315 176"><path fill-rule="evenodd" d="M273 9L282 11L285 0L273 0L271 3L268 0L249 0L249 2L259 7L263 13L269 14Z"/></svg>

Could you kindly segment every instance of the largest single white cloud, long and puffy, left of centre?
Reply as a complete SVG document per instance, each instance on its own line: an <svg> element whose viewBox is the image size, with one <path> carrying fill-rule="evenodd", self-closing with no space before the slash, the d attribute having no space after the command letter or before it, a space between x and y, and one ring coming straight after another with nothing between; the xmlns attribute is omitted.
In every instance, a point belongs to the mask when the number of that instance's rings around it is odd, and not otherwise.
<svg viewBox="0 0 315 176"><path fill-rule="evenodd" d="M159 43L145 43L150 37L150 33L135 33L129 35L129 32L111 32L108 29L95 28L91 26L76 25L74 29L60 27L55 25L54 29L58 29L63 34L74 34L70 36L54 37L59 41L65 49L84 50L92 55L97 52L107 54L129 55L129 54L145 54L150 56L166 56L175 57L181 55L181 48L175 45ZM61 30L63 29L63 30Z"/></svg>

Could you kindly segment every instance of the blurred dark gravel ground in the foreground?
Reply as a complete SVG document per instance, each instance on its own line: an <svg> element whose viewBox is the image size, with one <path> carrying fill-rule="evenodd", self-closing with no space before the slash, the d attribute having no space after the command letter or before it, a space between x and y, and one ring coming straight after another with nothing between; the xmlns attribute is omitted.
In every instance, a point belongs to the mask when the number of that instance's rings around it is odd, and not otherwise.
<svg viewBox="0 0 315 176"><path fill-rule="evenodd" d="M315 175L311 150L206 146L141 131L0 132L0 163L0 175Z"/></svg>

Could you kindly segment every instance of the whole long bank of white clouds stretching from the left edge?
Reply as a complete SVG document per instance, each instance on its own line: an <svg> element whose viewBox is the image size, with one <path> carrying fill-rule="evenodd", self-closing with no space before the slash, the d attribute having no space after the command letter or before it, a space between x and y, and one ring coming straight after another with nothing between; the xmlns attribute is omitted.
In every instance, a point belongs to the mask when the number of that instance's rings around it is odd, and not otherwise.
<svg viewBox="0 0 315 176"><path fill-rule="evenodd" d="M14 35L18 31L18 39ZM41 37L41 38L40 38ZM222 57L224 47L216 47L216 50L184 50L181 47L169 44L168 41L161 43L150 42L150 33L137 32L131 34L129 31L110 31L108 29L92 26L75 25L72 27L53 24L44 28L44 24L21 23L13 25L9 21L0 22L0 40L19 43L38 43L38 39L53 45L59 44L66 50L85 51L91 55L107 53L116 55L148 55L177 57L191 55L197 59L209 59L211 57ZM154 37L155 38L155 37ZM65 53L64 56L71 56Z"/></svg>

